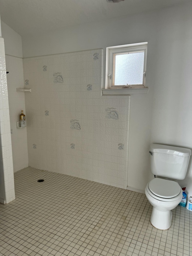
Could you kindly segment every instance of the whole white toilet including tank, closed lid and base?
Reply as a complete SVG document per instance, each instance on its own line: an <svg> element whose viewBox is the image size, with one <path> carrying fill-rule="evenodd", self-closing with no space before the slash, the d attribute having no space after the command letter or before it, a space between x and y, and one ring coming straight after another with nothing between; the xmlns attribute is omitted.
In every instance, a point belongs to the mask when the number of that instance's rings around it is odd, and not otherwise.
<svg viewBox="0 0 192 256"><path fill-rule="evenodd" d="M170 228L172 212L182 199L182 189L177 180L185 178L190 149L161 144L151 144L151 172L155 175L145 188L153 206L151 224L161 230Z"/></svg>

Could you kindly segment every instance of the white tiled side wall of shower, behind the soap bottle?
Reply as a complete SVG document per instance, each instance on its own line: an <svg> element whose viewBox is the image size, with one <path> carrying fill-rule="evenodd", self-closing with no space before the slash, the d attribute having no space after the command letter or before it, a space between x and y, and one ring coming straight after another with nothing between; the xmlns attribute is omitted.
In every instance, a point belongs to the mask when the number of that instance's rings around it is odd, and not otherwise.
<svg viewBox="0 0 192 256"><path fill-rule="evenodd" d="M9 112L11 141L13 150L14 172L29 166L27 148L27 128L16 128L21 110L25 110L25 93L16 92L16 88L24 88L22 58L5 55L7 74L7 87L9 94Z"/></svg>

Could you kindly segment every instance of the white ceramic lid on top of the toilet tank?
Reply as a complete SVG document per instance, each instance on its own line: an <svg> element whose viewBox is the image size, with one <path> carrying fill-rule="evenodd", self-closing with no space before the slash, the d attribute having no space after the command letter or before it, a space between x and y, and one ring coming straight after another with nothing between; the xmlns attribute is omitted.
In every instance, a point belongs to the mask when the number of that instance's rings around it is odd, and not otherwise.
<svg viewBox="0 0 192 256"><path fill-rule="evenodd" d="M168 145L161 145L161 144L151 144L149 150L151 152L158 152L158 153L179 155L179 156L190 156L191 155L190 149L168 146Z"/></svg>

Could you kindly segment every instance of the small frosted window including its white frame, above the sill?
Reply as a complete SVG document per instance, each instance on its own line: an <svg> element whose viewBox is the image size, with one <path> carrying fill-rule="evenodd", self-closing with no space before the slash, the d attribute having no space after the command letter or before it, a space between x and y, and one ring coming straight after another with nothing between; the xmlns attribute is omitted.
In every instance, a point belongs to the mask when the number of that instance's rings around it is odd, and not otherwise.
<svg viewBox="0 0 192 256"><path fill-rule="evenodd" d="M147 42L107 47L105 89L145 88Z"/></svg>

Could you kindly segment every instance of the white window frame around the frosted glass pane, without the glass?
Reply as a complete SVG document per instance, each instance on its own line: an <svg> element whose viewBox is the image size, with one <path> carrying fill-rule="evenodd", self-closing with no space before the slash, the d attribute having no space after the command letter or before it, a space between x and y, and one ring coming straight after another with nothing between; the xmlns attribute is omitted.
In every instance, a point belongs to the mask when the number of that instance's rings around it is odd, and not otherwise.
<svg viewBox="0 0 192 256"><path fill-rule="evenodd" d="M114 60L117 54L144 52L143 84L142 85L113 85L115 78ZM125 44L106 48L106 79L105 89L145 88L147 64L147 42L137 44Z"/></svg>

